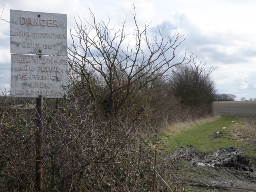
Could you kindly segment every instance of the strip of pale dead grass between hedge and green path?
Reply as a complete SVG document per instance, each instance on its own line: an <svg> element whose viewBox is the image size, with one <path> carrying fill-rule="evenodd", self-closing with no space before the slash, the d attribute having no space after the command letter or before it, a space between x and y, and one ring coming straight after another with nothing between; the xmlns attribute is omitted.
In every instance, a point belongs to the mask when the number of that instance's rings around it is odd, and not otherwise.
<svg viewBox="0 0 256 192"><path fill-rule="evenodd" d="M182 130L186 130L191 127L192 124L202 124L204 122L213 121L220 118L220 115L208 116L205 118L199 118L195 121L186 121L186 122L174 122L166 126L166 129L163 132L179 132Z"/></svg>

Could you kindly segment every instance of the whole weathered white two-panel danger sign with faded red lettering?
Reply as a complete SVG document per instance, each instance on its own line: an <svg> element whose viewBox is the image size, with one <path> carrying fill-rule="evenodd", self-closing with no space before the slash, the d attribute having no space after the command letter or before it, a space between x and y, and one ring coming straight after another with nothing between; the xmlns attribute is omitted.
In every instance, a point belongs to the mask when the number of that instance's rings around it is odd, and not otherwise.
<svg viewBox="0 0 256 192"><path fill-rule="evenodd" d="M67 94L67 16L10 10L11 96Z"/></svg>

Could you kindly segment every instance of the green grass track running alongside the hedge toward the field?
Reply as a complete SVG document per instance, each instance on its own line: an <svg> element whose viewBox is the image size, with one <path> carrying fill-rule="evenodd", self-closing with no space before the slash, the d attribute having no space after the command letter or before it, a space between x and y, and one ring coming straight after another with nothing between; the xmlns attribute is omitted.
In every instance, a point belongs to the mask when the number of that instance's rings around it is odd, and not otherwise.
<svg viewBox="0 0 256 192"><path fill-rule="evenodd" d="M215 120L201 121L180 127L176 132L162 132L158 149L170 153L179 147L193 147L200 152L215 152L220 148L235 147L246 156L254 157L252 145L236 140L232 132L240 131L242 120L230 116L219 116ZM255 147L255 146L253 146Z"/></svg>

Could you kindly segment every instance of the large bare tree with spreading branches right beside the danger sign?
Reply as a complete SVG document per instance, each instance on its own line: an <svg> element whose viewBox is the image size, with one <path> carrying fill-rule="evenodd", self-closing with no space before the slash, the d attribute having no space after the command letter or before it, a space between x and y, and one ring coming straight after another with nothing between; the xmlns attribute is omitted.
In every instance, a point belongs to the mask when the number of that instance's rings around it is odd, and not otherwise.
<svg viewBox="0 0 256 192"><path fill-rule="evenodd" d="M149 26L141 30L136 22L135 8L132 33L126 32L126 20L116 29L110 27L109 19L97 22L92 12L91 16L92 23L80 17L76 21L69 48L70 67L91 98L101 98L110 111L120 107L132 93L150 87L173 66L188 63L186 52L181 61L174 62L184 36L178 32L172 37L163 36L158 28L150 39L146 32Z"/></svg>

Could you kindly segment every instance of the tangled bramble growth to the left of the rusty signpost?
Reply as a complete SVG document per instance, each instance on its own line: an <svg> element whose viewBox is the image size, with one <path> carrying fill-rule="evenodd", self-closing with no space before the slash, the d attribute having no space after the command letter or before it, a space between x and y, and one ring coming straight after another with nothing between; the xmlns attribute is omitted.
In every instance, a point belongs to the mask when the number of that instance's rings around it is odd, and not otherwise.
<svg viewBox="0 0 256 192"><path fill-rule="evenodd" d="M14 105L12 105L14 103ZM26 104L1 97L0 102L0 190L33 190L34 131L31 110ZM28 185L27 185L28 184Z"/></svg>

